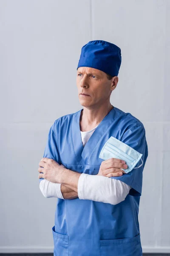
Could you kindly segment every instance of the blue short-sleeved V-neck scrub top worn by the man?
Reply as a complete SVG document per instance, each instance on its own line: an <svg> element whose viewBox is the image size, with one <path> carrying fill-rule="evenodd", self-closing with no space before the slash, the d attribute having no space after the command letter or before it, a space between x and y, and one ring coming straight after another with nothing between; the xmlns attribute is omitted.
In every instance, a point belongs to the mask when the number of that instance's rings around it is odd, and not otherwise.
<svg viewBox="0 0 170 256"><path fill-rule="evenodd" d="M120 177L110 177L132 187L119 204L58 198L52 227L54 256L142 256L138 214L142 173L148 156L144 125L130 113L114 107L83 146L81 111L54 121L43 157L72 171L96 175L103 161L100 151L113 136L143 154L143 165Z"/></svg>

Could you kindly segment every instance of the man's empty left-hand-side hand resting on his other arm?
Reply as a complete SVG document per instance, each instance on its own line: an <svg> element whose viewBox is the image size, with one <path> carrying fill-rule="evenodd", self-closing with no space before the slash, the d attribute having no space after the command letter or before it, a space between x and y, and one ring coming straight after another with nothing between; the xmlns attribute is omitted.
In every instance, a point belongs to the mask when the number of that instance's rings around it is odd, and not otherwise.
<svg viewBox="0 0 170 256"><path fill-rule="evenodd" d="M61 183L60 178L65 168L62 164L59 165L55 160L43 157L39 163L38 172L42 172L38 175L38 178L44 178L53 183ZM42 168L43 167L43 168Z"/></svg>

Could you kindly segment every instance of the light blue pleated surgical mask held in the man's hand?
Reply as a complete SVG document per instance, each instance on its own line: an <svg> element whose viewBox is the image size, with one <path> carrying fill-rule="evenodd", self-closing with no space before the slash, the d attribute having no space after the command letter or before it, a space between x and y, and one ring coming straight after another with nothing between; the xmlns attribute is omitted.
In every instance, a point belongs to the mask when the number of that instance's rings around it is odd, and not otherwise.
<svg viewBox="0 0 170 256"><path fill-rule="evenodd" d="M142 155L143 154L140 154L129 145L111 136L103 146L99 154L99 158L103 160L108 160L109 158L114 157L117 159L125 160L128 168L120 169L128 173L131 172L132 169L137 169L142 166L143 161L140 166L134 168L139 160L142 160Z"/></svg>

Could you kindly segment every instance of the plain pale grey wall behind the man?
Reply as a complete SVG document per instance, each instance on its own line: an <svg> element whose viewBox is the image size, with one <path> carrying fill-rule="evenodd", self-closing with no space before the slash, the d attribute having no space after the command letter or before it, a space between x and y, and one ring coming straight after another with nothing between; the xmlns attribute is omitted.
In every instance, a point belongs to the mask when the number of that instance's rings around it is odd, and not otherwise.
<svg viewBox="0 0 170 256"><path fill-rule="evenodd" d="M170 1L0 0L0 253L53 252L57 198L38 163L54 120L78 111L81 47L122 50L111 103L140 119L149 156L139 224L143 252L170 252Z"/></svg>

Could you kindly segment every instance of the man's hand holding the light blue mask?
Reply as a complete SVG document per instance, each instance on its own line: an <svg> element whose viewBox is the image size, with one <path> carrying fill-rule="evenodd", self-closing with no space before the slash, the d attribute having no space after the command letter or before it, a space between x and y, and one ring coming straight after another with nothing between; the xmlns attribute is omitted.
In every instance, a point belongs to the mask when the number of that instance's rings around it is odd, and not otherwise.
<svg viewBox="0 0 170 256"><path fill-rule="evenodd" d="M119 177L123 173L126 173L120 169L120 168L122 169L128 168L127 165L124 166L125 163L122 163L122 160L117 158L110 158L108 160L105 160L101 163L99 173L97 175L102 175L106 177ZM120 172L122 172L121 175L119 175Z"/></svg>

